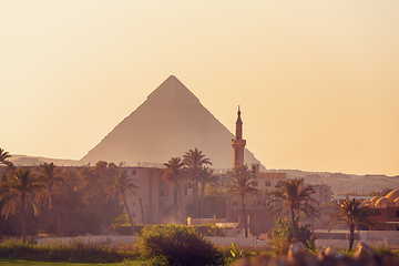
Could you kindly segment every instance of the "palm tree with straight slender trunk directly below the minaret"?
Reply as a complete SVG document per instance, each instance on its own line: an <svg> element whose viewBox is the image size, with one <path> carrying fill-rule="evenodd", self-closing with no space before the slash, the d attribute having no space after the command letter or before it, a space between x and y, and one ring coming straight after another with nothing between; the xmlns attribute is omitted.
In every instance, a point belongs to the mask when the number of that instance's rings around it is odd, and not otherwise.
<svg viewBox="0 0 399 266"><path fill-rule="evenodd" d="M250 181L252 173L248 165L236 166L232 171L227 172L227 176L232 178L233 184L228 187L228 193L241 196L241 203L243 206L243 219L245 227L245 237L248 237L248 225L245 214L245 196L248 194L256 194L257 188L254 187L254 182Z"/></svg>

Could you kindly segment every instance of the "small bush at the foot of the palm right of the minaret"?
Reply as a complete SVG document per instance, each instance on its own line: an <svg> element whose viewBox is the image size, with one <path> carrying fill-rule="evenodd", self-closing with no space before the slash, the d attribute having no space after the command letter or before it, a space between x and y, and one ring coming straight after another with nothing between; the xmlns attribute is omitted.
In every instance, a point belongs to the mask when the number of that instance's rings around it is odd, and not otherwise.
<svg viewBox="0 0 399 266"><path fill-rule="evenodd" d="M296 232L298 235L298 242L305 244L306 248L313 249L315 247L315 239L311 238L311 232L309 229L310 225L299 225L299 217L295 217ZM293 223L288 222L286 218L278 218L276 227L272 229L272 238L269 246L272 252L277 255L288 254L290 244L297 242L294 239L294 229Z"/></svg>

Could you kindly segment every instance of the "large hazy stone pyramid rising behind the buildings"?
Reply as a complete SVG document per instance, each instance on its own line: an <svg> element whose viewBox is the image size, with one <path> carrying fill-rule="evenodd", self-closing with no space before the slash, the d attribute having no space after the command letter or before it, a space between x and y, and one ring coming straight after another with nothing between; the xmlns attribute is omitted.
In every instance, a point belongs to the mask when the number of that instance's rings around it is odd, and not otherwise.
<svg viewBox="0 0 399 266"><path fill-rule="evenodd" d="M235 112L232 115L236 115ZM160 166L197 147L212 161L214 168L232 168L232 139L234 135L171 75L80 163L93 164L102 160ZM250 165L259 161L246 150L245 163Z"/></svg>

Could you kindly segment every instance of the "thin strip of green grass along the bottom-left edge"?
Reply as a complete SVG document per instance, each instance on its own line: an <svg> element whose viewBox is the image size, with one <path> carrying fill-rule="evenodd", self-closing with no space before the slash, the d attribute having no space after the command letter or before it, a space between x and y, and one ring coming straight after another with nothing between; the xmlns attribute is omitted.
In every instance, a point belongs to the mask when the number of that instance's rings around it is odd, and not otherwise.
<svg viewBox="0 0 399 266"><path fill-rule="evenodd" d="M111 266L142 266L145 265L145 262L142 260L125 260L123 263L109 263L109 264L82 264L82 263L48 263L48 262L34 262L34 260L24 260L24 259L9 259L9 258L0 258L0 265L6 266L20 266L20 265L29 265L29 266L93 266L93 265L111 265Z"/></svg>

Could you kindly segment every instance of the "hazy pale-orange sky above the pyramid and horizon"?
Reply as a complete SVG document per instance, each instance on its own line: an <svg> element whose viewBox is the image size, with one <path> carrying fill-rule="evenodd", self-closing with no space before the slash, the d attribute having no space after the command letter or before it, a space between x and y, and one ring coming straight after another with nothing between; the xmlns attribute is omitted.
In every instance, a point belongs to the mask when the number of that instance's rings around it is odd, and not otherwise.
<svg viewBox="0 0 399 266"><path fill-rule="evenodd" d="M399 1L0 0L0 147L81 158L168 75L267 168L399 175Z"/></svg>

